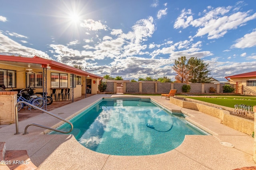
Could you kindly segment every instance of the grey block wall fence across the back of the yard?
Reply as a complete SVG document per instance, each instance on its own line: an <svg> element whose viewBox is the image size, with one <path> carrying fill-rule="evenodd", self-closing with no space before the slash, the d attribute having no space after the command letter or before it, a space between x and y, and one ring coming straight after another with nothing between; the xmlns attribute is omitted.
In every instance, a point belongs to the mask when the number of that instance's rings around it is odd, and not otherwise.
<svg viewBox="0 0 256 170"><path fill-rule="evenodd" d="M105 92L116 92L116 82L107 82ZM170 89L177 89L177 93L182 93L182 86L189 84L191 87L190 93L209 93L210 87L216 89L216 93L223 92L225 84L213 83L161 83L161 82L124 82L123 93L169 93ZM235 84L229 84L236 88Z"/></svg>

